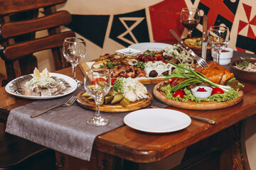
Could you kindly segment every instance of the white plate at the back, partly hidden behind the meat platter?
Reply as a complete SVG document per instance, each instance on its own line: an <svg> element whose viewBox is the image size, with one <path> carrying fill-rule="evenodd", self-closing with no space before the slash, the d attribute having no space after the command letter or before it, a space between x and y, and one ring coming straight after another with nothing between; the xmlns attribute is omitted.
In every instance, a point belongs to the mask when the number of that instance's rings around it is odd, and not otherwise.
<svg viewBox="0 0 256 170"><path fill-rule="evenodd" d="M165 47L172 47L172 45L159 42L142 42L129 46L129 48L140 50L142 52L145 52L146 50L160 51L163 50Z"/></svg>

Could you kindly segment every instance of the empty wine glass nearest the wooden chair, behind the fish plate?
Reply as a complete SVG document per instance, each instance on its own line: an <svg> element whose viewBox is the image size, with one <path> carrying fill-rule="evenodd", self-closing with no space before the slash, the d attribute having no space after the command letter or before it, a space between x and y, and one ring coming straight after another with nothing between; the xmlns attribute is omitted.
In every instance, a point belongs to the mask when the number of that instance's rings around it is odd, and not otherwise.
<svg viewBox="0 0 256 170"><path fill-rule="evenodd" d="M65 38L63 42L63 55L72 66L73 79L77 82L78 86L82 86L82 81L76 79L75 68L86 55L86 43L82 38Z"/></svg>

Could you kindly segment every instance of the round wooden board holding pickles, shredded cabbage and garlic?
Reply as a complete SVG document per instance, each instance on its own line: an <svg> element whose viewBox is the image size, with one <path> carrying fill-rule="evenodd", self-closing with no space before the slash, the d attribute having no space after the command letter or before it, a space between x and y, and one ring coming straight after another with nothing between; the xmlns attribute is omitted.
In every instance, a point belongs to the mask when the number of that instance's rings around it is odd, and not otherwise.
<svg viewBox="0 0 256 170"><path fill-rule="evenodd" d="M96 109L95 101L86 91L81 91L78 94L77 101L83 108L92 111ZM136 111L140 108L146 108L152 101L152 94L150 94L146 90L146 87L137 79L117 78L112 79L110 92L102 98L100 111L107 113Z"/></svg>

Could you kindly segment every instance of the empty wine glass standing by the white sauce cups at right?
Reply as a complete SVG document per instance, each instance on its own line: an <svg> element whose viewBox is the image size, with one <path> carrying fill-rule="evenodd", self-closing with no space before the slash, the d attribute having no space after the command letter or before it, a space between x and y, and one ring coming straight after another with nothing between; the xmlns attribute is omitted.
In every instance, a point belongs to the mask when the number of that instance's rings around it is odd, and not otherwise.
<svg viewBox="0 0 256 170"><path fill-rule="evenodd" d="M227 47L230 41L230 31L226 26L210 26L208 42L217 52L217 62L220 63L220 52Z"/></svg>

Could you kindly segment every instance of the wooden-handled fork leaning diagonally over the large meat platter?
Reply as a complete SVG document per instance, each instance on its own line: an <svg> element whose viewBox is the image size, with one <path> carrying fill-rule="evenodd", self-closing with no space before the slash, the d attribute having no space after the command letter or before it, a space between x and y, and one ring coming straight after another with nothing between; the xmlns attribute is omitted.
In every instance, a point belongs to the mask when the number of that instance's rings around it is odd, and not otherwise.
<svg viewBox="0 0 256 170"><path fill-rule="evenodd" d="M193 57L196 58L196 62L198 62L198 64L202 68L208 67L208 64L207 64L206 60L204 60L202 57L198 57L198 55L196 55L195 52L193 52L193 50L191 50L191 48L188 47L186 42L184 42L173 29L170 30L170 33L188 51L189 54L191 54Z"/></svg>

